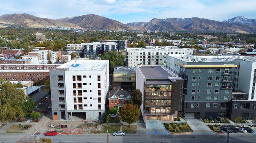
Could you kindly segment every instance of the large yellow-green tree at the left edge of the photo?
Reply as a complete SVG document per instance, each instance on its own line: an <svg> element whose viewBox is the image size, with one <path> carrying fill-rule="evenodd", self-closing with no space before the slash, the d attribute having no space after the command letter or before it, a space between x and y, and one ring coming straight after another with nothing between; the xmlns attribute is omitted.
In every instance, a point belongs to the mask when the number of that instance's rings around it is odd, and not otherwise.
<svg viewBox="0 0 256 143"><path fill-rule="evenodd" d="M0 121L15 121L23 118L26 94L10 81L0 81Z"/></svg>

